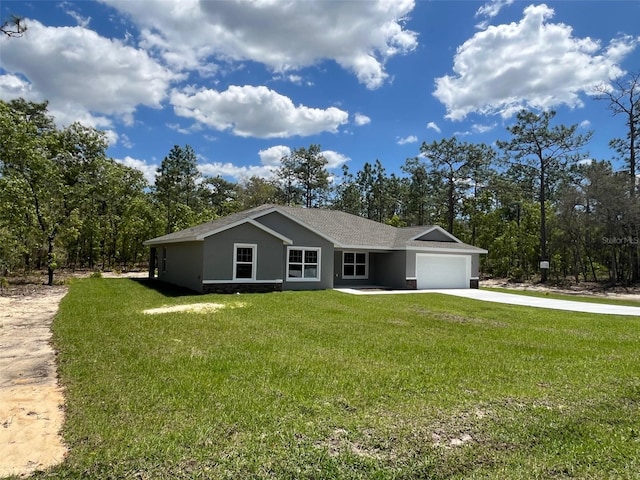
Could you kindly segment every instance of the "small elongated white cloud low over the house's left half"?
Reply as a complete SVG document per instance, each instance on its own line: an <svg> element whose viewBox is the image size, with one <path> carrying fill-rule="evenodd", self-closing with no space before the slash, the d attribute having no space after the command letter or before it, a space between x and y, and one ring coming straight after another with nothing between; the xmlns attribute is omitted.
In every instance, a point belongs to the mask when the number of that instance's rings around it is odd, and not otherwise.
<svg viewBox="0 0 640 480"><path fill-rule="evenodd" d="M171 104L181 117L240 137L282 138L337 132L349 114L336 107L326 110L295 106L289 97L264 86L232 85L224 92L201 89L171 93Z"/></svg>

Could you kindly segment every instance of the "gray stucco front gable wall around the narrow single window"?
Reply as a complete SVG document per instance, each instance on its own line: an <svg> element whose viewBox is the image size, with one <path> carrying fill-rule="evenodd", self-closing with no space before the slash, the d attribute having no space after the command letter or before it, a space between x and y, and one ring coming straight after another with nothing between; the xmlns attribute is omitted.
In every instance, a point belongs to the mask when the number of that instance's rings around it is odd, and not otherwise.
<svg viewBox="0 0 640 480"><path fill-rule="evenodd" d="M235 244L256 245L255 281L282 280L282 240L251 224L242 224L205 238L204 281L232 281Z"/></svg>

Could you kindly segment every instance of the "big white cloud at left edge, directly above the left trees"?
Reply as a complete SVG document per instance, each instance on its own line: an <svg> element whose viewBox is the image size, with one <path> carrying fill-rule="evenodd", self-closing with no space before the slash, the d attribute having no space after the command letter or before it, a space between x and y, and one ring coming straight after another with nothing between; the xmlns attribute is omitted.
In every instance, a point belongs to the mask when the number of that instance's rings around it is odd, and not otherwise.
<svg viewBox="0 0 640 480"><path fill-rule="evenodd" d="M105 116L115 116L132 124L136 108L160 108L170 82L177 79L146 52L92 30L27 23L29 30L20 41L0 38L2 68L11 76L5 78L3 93L12 82L14 95L26 92L31 100L49 100L58 123L82 119L91 126L109 126ZM28 82L18 85L15 74Z"/></svg>

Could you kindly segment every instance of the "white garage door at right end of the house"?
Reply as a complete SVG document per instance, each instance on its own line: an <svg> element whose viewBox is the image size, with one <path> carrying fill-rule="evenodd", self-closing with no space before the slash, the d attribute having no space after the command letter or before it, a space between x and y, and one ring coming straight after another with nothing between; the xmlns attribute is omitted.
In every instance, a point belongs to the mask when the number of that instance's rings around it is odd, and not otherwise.
<svg viewBox="0 0 640 480"><path fill-rule="evenodd" d="M417 286L423 288L469 288L470 255L416 254Z"/></svg>

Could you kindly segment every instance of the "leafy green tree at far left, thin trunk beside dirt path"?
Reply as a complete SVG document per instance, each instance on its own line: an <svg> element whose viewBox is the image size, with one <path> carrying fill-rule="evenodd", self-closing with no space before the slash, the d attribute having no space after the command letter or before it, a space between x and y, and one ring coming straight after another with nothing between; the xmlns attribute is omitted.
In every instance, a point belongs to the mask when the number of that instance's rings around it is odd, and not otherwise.
<svg viewBox="0 0 640 480"><path fill-rule="evenodd" d="M58 250L59 240L99 177L95 166L105 160L106 145L104 134L92 128L58 130L46 103L0 102L0 175L22 192L14 218L22 219L17 228L30 239L25 244L40 246L36 266L46 265L49 285L66 254Z"/></svg>

